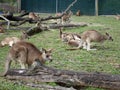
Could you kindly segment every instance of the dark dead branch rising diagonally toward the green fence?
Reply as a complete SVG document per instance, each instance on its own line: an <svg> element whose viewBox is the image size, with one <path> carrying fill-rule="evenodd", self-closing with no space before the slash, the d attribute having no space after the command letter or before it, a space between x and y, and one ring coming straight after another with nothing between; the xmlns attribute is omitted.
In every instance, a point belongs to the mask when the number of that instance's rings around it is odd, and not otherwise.
<svg viewBox="0 0 120 90"><path fill-rule="evenodd" d="M31 18L23 18L23 16L25 15L28 15L28 12L26 13L23 13L23 14L20 14L18 16L14 16L13 14L6 14L6 15L2 15L4 16L6 19L10 20L10 21L21 21L21 22L15 22L15 23L11 23L10 25L12 26L19 26L19 25L22 25L24 24L25 22L29 22L29 23L37 23L38 21L41 22L41 21L46 21L46 20L51 20L51 19L59 19L61 18L65 12L67 12L72 6L73 4L75 4L77 2L77 0L73 1L68 7L67 9L60 15L60 16L48 16L46 18L41 18L41 19L38 19L38 20L32 20ZM0 17L0 20L3 20L3 18ZM4 24L4 23L2 23Z"/></svg>

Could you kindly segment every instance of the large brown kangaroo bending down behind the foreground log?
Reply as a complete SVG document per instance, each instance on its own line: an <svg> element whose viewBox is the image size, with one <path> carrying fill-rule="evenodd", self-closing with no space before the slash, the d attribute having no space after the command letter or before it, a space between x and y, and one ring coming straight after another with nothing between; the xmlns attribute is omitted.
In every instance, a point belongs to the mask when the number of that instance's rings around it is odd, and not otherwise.
<svg viewBox="0 0 120 90"><path fill-rule="evenodd" d="M7 75L13 60L20 63L21 69L25 69L26 65L28 66L28 69L30 69L34 65L37 65L35 64L37 63L36 60L39 60L40 64L45 64L46 60L52 61L51 52L52 49L42 49L42 51L40 51L36 46L29 42L17 42L8 52L3 76Z"/></svg>

